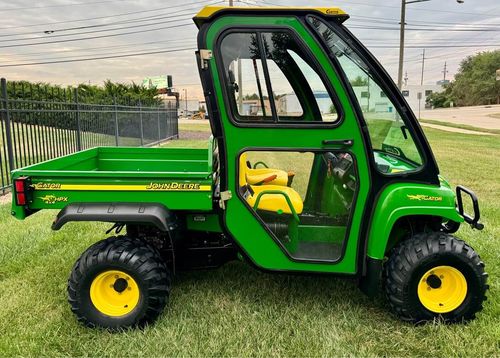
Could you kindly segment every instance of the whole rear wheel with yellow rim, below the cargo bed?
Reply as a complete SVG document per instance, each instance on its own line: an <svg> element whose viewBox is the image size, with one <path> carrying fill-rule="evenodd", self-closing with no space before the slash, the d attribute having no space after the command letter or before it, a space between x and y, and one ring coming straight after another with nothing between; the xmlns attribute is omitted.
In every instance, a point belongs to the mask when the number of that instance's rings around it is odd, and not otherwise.
<svg viewBox="0 0 500 358"><path fill-rule="evenodd" d="M124 236L89 247L68 280L71 310L90 327L150 323L161 313L169 292L169 271L157 250Z"/></svg>

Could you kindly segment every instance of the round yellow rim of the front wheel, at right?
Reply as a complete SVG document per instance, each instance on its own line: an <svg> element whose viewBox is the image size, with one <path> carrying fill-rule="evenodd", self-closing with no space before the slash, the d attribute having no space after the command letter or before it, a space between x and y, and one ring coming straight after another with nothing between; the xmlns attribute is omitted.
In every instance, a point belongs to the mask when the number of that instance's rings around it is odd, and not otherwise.
<svg viewBox="0 0 500 358"><path fill-rule="evenodd" d="M467 280L451 266L430 269L418 283L418 298L431 312L451 312L462 304L466 296Z"/></svg>

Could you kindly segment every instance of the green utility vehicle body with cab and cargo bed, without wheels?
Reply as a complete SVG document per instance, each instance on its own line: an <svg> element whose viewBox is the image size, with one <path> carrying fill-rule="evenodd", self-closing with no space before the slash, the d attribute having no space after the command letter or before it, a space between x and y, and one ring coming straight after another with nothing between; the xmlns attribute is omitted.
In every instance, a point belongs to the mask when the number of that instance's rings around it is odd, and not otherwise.
<svg viewBox="0 0 500 358"><path fill-rule="evenodd" d="M231 249L234 255L225 256L220 264L238 256L267 271L352 275L361 279L367 293L373 293L378 284L384 257L405 236L405 223L431 225L437 230L446 228L443 225L447 223L456 226L465 219L473 226L480 225L478 212L472 218L463 210L457 210L456 192L439 176L429 145L408 105L381 66L353 39L360 54L378 73L384 90L404 109L405 125L413 135L423 163L417 168L394 157L387 160L385 154L372 150L366 123L353 92L303 20L311 12L294 11L275 11L261 16L251 11L227 10L196 20L200 28L199 49L212 53L212 56L204 57L203 51L198 52L214 135L208 150L93 148L18 169L12 172L12 178L14 182L27 178L28 201L25 205L18 205L14 190L12 215L25 219L38 210L62 210L68 205L81 203L159 204L176 215L185 232L201 236L223 235L230 240L234 245ZM332 19L340 27L345 16ZM276 28L291 31L314 56L315 63L336 95L336 105L341 108L340 121L332 125L308 125L307 122L303 125L252 125L233 120L227 89L224 88L226 80L217 62L221 34L235 29ZM350 36L347 32L345 34ZM332 139L337 142L329 142ZM347 139L348 145L338 142ZM339 257L333 260L290 257L256 216L256 210L245 202L238 182L239 158L244 152L261 151L307 151L317 153L315 161L327 151L341 151L355 159L357 187L348 225L324 225L311 229L300 224L301 218L298 221L292 218L289 227L290 247L287 249L291 251L294 233L300 235L304 230L310 233L311 240L328 232L335 232L337 237L345 236ZM384 161L392 174L376 170L375 162ZM318 173L314 172L313 165L309 191L315 190L312 187L315 175ZM289 201L288 197L285 199ZM307 200L304 205L308 205ZM218 248L214 247L210 254Z"/></svg>

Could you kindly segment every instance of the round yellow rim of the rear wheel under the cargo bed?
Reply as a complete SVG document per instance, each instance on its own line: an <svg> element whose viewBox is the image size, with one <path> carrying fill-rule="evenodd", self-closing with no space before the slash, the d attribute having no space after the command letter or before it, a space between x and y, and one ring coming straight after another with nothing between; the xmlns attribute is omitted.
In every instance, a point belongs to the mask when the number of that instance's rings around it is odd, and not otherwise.
<svg viewBox="0 0 500 358"><path fill-rule="evenodd" d="M139 286L123 271L104 271L90 285L90 300L95 308L112 317L132 312L139 303L139 297Z"/></svg>

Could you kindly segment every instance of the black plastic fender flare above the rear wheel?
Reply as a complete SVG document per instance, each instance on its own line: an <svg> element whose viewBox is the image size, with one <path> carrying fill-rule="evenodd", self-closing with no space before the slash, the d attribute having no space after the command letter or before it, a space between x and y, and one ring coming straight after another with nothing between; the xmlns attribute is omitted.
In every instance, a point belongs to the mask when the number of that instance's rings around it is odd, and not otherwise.
<svg viewBox="0 0 500 358"><path fill-rule="evenodd" d="M71 221L149 224L164 232L177 227L174 214L165 205L155 203L72 203L57 214L52 230Z"/></svg>

